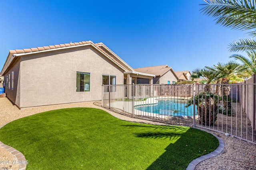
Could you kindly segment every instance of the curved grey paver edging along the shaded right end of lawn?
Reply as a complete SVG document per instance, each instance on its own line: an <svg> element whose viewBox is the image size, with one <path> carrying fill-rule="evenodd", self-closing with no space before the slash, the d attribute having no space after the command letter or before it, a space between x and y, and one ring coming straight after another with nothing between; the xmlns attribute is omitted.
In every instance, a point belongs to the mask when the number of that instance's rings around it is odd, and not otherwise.
<svg viewBox="0 0 256 170"><path fill-rule="evenodd" d="M199 128L196 128L196 129L199 129ZM203 129L200 129L200 130L205 131L205 130L203 130ZM208 131L206 131L206 132L208 132ZM210 133L210 132L208 132L208 133ZM210 133L210 134L212 134L212 133ZM192 162L190 162L190 164L188 165L188 167L186 168L186 170L194 170L194 169L196 168L196 166L197 166L200 162L202 162L202 161L204 161L204 160L206 160L206 159L212 158L212 157L214 157L214 156L217 156L218 154L220 154L220 153L222 152L222 150L224 150L225 145L224 145L224 142L222 141L222 139L220 139L218 136L216 136L216 135L214 135L214 134L212 134L212 135L213 135L214 137L216 137L216 138L218 139L218 141L219 141L219 146L218 146L218 148L217 148L216 150L214 150L213 152L209 153L209 154L200 156L199 158L196 158L196 159L192 160Z"/></svg>

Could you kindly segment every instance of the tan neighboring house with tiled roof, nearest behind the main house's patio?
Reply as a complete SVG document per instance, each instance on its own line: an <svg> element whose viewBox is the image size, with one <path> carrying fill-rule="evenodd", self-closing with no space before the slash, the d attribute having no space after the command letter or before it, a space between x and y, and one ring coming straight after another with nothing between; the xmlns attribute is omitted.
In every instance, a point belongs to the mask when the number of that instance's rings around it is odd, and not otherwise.
<svg viewBox="0 0 256 170"><path fill-rule="evenodd" d="M134 68L135 71L144 72L147 74L155 74L153 84L175 84L178 81L178 76L168 65L151 66L143 68ZM138 78L137 84L149 84L147 79Z"/></svg>

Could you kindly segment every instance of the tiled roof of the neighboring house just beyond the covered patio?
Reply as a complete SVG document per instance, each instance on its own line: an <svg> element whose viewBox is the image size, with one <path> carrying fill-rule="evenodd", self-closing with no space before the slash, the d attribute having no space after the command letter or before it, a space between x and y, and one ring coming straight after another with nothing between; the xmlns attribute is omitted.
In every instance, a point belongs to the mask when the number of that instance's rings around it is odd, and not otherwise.
<svg viewBox="0 0 256 170"><path fill-rule="evenodd" d="M142 68L134 68L135 71L138 72L144 72L147 74L154 74L156 77L161 77L163 76L166 72L172 71L174 76L178 78L172 67L169 67L168 65L160 65L160 66L150 66L150 67L142 67Z"/></svg>

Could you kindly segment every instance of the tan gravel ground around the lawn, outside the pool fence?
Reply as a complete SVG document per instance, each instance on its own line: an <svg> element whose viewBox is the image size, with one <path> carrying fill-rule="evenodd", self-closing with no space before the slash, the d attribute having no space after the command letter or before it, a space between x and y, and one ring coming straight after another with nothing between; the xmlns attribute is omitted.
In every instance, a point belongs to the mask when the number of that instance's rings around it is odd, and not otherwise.
<svg viewBox="0 0 256 170"><path fill-rule="evenodd" d="M20 110L13 105L7 98L0 98L0 127L16 119L49 111L53 109L62 109L69 107L94 107L103 109L111 115L123 119L126 121L140 122L140 123L151 123L151 124L162 124L153 121L147 121L142 119L135 119L127 117L108 109L100 107L98 102L82 102L75 104L61 104L54 106L43 106L31 109ZM196 170L256 170L256 145L246 141L242 141L235 137L225 136L222 133L211 131L211 133L217 135L224 141L224 150L213 158L207 159L196 166ZM16 156L8 152L7 150L0 148L0 161L13 161L16 160ZM18 170L17 164L0 164L1 169Z"/></svg>

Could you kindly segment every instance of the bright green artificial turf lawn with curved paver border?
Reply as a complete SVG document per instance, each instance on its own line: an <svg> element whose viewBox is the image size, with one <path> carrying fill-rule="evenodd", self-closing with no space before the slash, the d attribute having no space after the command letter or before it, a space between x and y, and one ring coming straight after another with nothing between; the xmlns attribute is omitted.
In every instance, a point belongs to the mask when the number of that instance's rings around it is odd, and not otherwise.
<svg viewBox="0 0 256 170"><path fill-rule="evenodd" d="M27 170L174 170L212 152L218 139L198 129L122 121L94 108L23 117L0 141L24 154Z"/></svg>

